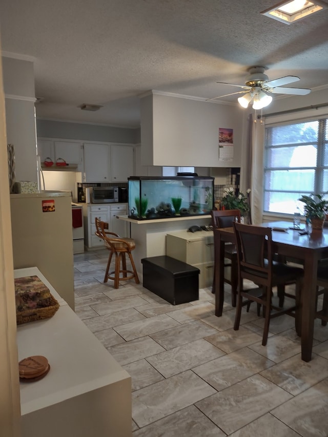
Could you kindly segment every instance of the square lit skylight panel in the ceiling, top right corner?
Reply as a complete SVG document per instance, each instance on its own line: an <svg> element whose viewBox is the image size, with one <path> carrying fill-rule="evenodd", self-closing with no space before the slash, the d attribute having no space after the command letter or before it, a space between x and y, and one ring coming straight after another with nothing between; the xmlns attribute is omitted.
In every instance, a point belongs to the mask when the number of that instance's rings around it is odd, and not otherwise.
<svg viewBox="0 0 328 437"><path fill-rule="evenodd" d="M261 12L261 14L285 24L292 24L327 7L328 5L321 2L321 0L314 0L312 2L306 2L305 0L288 0Z"/></svg>

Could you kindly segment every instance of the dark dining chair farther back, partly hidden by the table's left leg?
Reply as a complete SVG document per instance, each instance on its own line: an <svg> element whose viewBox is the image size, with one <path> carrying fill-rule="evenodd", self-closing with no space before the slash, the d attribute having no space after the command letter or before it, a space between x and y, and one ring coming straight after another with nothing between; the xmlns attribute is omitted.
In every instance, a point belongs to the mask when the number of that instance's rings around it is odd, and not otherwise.
<svg viewBox="0 0 328 437"><path fill-rule="evenodd" d="M240 210L211 211L213 228L232 227L233 222L240 223ZM215 247L214 247L215 250ZM229 261L228 261L229 260ZM233 307L237 303L237 284L238 284L238 262L235 244L224 246L224 267L230 267L230 279L224 277L224 282L231 285L231 304ZM212 293L215 289L215 275L213 277Z"/></svg>

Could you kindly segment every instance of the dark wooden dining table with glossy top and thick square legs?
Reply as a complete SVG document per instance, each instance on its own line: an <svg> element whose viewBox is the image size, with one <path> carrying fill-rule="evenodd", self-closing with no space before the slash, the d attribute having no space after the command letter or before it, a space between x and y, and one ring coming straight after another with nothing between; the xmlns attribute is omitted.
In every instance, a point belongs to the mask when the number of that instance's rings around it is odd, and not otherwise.
<svg viewBox="0 0 328 437"><path fill-rule="evenodd" d="M252 225L250 225L252 226ZM309 362L312 357L313 331L316 307L316 280L318 261L328 258L328 228L312 231L301 224L293 228L289 221L272 221L259 224L272 228L274 252L303 265L301 290L301 358ZM215 315L222 316L224 300L224 246L235 243L233 227L214 229L214 292Z"/></svg>

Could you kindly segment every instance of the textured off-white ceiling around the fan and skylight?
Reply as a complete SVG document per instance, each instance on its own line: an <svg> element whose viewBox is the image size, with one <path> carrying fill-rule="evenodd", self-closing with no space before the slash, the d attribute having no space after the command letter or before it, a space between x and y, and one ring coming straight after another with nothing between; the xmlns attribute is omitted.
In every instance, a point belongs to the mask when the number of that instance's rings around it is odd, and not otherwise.
<svg viewBox="0 0 328 437"><path fill-rule="evenodd" d="M238 91L216 82L243 85L251 66L326 86L328 9L289 26L260 14L276 3L1 0L2 50L35 58L38 117L136 128L145 91L212 98Z"/></svg>

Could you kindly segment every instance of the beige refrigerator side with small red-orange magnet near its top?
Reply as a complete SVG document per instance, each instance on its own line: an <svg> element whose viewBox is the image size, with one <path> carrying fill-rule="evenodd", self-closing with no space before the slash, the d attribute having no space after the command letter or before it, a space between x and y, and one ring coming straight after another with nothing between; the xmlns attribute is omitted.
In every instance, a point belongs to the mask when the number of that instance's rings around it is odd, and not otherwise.
<svg viewBox="0 0 328 437"><path fill-rule="evenodd" d="M14 268L37 267L74 310L71 193L11 194Z"/></svg>

